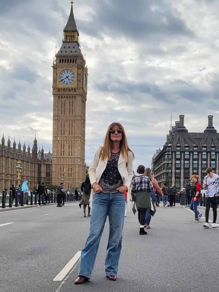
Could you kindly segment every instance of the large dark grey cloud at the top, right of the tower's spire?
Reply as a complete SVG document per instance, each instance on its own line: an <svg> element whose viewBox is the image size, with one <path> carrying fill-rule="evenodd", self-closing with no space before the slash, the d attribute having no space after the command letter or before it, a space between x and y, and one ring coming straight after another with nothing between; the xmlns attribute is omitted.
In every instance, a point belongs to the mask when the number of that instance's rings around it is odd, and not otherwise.
<svg viewBox="0 0 219 292"><path fill-rule="evenodd" d="M131 0L100 1L95 6L95 21L82 22L81 29L89 34L100 35L105 30L113 35L124 34L136 40L145 37L164 38L165 35L193 36L193 32L180 19L166 1L139 0L133 7ZM152 6L158 6L155 11ZM158 40L159 41L159 40Z"/></svg>

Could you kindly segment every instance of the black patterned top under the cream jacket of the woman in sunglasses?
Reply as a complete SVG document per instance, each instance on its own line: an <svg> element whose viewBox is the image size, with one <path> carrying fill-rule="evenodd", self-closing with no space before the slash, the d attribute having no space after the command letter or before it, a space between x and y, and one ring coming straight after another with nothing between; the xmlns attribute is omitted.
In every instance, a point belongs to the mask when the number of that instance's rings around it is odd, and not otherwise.
<svg viewBox="0 0 219 292"><path fill-rule="evenodd" d="M102 187L103 193L117 193L117 188L123 185L121 175L118 171L119 156L120 152L111 153L107 167L100 178L99 185Z"/></svg>

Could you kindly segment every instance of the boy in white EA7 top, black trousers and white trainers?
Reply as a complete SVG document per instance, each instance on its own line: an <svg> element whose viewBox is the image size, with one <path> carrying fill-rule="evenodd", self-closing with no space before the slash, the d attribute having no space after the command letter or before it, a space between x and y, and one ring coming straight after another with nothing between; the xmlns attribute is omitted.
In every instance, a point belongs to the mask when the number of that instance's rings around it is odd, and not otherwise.
<svg viewBox="0 0 219 292"><path fill-rule="evenodd" d="M219 197L219 175L213 173L211 167L206 169L207 175L204 177L203 185L204 190L206 191L206 200L205 200L205 223L203 224L204 228L209 228L208 218L209 211L212 204L213 209L213 224L212 228L216 227L217 220L217 207L218 207L218 197Z"/></svg>

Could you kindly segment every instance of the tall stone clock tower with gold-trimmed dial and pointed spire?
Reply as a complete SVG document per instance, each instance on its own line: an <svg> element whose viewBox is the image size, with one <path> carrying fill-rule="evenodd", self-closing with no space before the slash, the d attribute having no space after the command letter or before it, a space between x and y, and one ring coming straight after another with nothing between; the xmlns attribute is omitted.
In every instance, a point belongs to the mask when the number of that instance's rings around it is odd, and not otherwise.
<svg viewBox="0 0 219 292"><path fill-rule="evenodd" d="M79 46L73 1L62 46L53 63L53 184L65 189L85 179L87 67Z"/></svg>

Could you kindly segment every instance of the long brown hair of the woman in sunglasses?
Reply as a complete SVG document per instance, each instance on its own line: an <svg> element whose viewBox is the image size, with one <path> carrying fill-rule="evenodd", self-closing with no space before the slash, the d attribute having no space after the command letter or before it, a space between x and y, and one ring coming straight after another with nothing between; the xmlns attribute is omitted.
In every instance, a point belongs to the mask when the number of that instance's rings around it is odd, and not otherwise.
<svg viewBox="0 0 219 292"><path fill-rule="evenodd" d="M110 158L113 142L110 138L109 131L112 130L115 126L119 127L119 129L122 130L122 139L120 141L120 151L121 151L121 154L122 154L122 157L124 158L124 160L126 162L128 162L128 151L130 151L133 154L133 156L134 156L134 153L128 147L126 133L125 133L123 126L120 123L115 123L115 122L112 123L109 126L109 128L107 129L105 140L104 140L103 146L101 147L101 150L100 150L100 160L105 160L105 159L109 160L109 158Z"/></svg>

